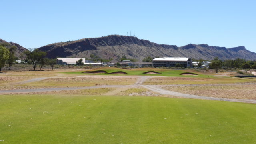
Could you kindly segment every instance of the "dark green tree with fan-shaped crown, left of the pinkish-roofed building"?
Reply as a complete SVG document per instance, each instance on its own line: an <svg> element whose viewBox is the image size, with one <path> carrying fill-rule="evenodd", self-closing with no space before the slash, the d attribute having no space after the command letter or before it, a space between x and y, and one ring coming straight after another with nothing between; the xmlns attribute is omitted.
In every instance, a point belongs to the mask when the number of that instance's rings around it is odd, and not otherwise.
<svg viewBox="0 0 256 144"><path fill-rule="evenodd" d="M46 52L42 52L38 49L26 50L24 54L26 55L28 60L30 60L31 63L33 64L34 70L36 70L36 64L38 64L41 61L41 59L44 58L44 56L46 56Z"/></svg>

